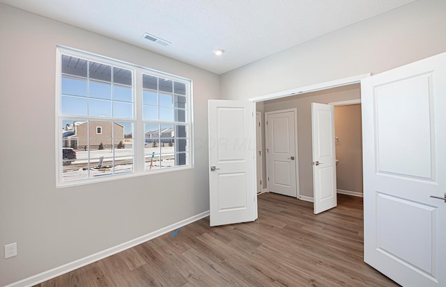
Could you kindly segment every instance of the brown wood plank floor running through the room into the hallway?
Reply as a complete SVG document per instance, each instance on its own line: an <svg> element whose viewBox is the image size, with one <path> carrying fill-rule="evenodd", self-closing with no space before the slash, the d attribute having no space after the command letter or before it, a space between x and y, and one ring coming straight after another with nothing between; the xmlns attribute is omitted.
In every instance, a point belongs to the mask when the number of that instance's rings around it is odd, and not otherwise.
<svg viewBox="0 0 446 287"><path fill-rule="evenodd" d="M56 277L47 286L399 286L363 262L362 198L313 204L264 193L259 219L209 227L204 218Z"/></svg>

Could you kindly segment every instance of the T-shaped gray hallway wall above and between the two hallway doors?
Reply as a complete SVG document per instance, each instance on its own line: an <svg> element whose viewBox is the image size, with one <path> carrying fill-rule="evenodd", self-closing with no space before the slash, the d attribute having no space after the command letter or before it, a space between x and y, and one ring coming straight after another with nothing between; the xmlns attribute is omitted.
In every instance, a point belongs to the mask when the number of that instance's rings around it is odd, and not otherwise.
<svg viewBox="0 0 446 287"><path fill-rule="evenodd" d="M293 97L272 99L263 102L265 112L298 109L298 156L300 195L313 197L312 167L312 108L311 103L328 104L360 98L360 84L346 85L318 92L308 92ZM268 182L268 181L266 181Z"/></svg>

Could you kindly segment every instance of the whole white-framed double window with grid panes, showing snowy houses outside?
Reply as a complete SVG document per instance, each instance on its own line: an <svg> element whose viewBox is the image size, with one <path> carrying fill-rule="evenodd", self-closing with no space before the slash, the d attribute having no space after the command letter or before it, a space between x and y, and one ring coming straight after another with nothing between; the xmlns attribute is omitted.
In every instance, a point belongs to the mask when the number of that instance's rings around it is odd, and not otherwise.
<svg viewBox="0 0 446 287"><path fill-rule="evenodd" d="M191 166L190 80L60 47L58 58L59 185Z"/></svg>

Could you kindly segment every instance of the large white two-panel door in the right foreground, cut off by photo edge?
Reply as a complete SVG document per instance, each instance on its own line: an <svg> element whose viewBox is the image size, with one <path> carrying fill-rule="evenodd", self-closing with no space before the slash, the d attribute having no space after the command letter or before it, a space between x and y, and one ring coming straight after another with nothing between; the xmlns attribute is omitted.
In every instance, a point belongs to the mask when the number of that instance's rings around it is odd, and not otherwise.
<svg viewBox="0 0 446 287"><path fill-rule="evenodd" d="M361 94L364 261L402 286L446 286L446 54Z"/></svg>

